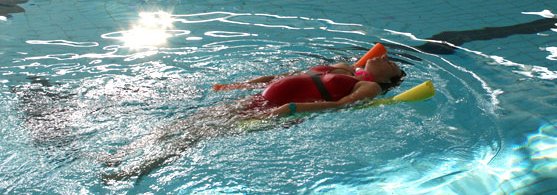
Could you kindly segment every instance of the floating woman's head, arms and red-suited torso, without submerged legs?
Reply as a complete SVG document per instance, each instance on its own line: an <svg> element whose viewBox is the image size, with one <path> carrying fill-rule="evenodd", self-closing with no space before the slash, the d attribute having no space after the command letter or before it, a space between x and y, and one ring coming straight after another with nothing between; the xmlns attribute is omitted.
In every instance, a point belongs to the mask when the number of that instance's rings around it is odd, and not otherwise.
<svg viewBox="0 0 557 195"><path fill-rule="evenodd" d="M386 56L368 60L363 69L338 63L314 66L305 73L293 74L263 76L236 85L266 86L261 94L250 98L247 108L267 108L270 109L268 115L282 116L372 99L400 85L406 76Z"/></svg>

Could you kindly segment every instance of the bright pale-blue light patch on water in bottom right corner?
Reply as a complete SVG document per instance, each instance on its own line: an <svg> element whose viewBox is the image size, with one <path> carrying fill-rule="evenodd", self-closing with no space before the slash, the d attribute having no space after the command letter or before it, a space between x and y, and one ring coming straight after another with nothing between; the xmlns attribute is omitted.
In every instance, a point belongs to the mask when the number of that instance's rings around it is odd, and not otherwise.
<svg viewBox="0 0 557 195"><path fill-rule="evenodd" d="M416 170L370 185L323 185L314 194L542 194L555 190L557 177L557 124L545 124L537 134L508 153L483 150L466 164L438 164L422 178L408 181ZM480 150L481 151L481 150ZM464 166L462 166L464 165ZM451 173L451 171L453 171Z"/></svg>

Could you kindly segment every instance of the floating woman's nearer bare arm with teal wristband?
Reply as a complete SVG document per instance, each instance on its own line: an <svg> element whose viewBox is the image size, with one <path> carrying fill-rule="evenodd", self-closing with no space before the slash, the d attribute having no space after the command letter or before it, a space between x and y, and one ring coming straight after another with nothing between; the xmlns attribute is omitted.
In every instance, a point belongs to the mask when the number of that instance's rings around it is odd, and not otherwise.
<svg viewBox="0 0 557 195"><path fill-rule="evenodd" d="M381 92L381 87L377 83L372 82L358 82L354 86L354 90L349 95L343 97L338 101L327 101L327 102L305 102L305 103L295 103L295 112L311 112L316 110L324 110L329 108L335 108L343 106L349 103L356 102L365 98L374 98ZM283 116L290 113L289 104L284 104L276 109L274 109L270 114Z"/></svg>

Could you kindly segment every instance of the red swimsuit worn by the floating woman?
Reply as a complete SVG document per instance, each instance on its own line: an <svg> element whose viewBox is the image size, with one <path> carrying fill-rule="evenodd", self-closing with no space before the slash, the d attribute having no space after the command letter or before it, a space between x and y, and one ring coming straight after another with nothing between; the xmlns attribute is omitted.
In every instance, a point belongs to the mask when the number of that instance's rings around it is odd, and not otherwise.
<svg viewBox="0 0 557 195"><path fill-rule="evenodd" d="M308 74L285 77L273 82L267 87L262 95L268 101L268 106L280 106L290 102L314 102L330 99L337 101L350 94L357 79L341 74L330 74L337 69L331 66L315 66L309 71L314 78ZM325 91L330 97L323 97L323 89L318 89L318 81L321 80Z"/></svg>

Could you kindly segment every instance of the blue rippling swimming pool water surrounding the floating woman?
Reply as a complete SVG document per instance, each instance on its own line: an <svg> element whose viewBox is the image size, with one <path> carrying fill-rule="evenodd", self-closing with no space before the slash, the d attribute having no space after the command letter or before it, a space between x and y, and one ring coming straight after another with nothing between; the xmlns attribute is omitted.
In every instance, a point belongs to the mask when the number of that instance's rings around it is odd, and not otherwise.
<svg viewBox="0 0 557 195"><path fill-rule="evenodd" d="M0 3L2 193L557 191L551 1ZM258 92L215 83L353 62L376 42L410 75L387 96L425 80L437 95L218 136L140 179L101 179L119 168L107 153ZM145 145L121 167L170 147Z"/></svg>

